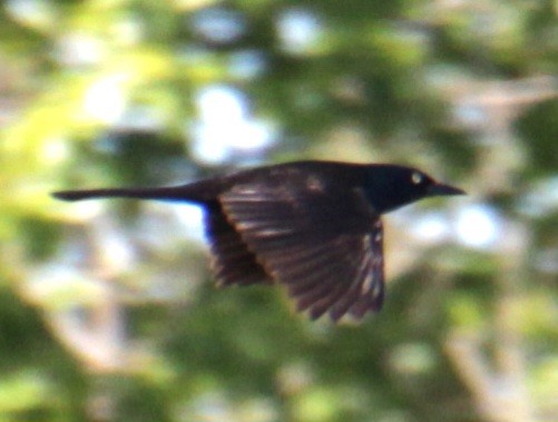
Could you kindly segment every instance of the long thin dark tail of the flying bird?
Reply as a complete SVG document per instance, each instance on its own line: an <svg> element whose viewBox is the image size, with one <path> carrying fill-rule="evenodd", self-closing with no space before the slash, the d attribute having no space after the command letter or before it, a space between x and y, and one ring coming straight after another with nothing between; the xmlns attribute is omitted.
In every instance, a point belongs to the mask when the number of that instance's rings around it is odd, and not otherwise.
<svg viewBox="0 0 558 422"><path fill-rule="evenodd" d="M188 200L204 203L211 200L212 193L199 184L173 187L104 188L86 190L60 190L52 196L62 200L82 200L97 198L136 198L158 200ZM211 190L211 189L209 189Z"/></svg>

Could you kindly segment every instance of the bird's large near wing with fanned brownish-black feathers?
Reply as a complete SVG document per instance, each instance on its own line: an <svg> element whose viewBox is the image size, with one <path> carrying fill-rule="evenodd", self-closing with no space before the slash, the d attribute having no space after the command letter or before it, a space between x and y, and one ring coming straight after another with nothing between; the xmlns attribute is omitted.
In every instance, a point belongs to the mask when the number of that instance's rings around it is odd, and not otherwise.
<svg viewBox="0 0 558 422"><path fill-rule="evenodd" d="M317 186L319 187L319 186ZM379 311L383 229L360 189L247 184L219 196L227 219L298 311L337 321Z"/></svg>

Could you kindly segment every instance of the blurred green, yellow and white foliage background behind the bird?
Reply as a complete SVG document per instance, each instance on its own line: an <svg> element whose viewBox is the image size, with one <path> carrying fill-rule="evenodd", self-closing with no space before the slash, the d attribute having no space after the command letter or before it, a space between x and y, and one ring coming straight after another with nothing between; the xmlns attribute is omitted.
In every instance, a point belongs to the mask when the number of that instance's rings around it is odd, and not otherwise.
<svg viewBox="0 0 558 422"><path fill-rule="evenodd" d="M558 421L552 0L0 3L0 420ZM467 189L386 216L361 325L216 289L196 207L49 193L294 159Z"/></svg>

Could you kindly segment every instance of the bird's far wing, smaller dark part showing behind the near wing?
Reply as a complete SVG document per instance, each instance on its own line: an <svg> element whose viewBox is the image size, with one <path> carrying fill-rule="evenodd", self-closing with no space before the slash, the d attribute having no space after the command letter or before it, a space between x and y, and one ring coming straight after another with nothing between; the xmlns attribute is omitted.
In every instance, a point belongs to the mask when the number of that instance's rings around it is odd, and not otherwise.
<svg viewBox="0 0 558 422"><path fill-rule="evenodd" d="M265 269L218 205L206 209L204 226L212 249L212 268L221 285L270 282Z"/></svg>

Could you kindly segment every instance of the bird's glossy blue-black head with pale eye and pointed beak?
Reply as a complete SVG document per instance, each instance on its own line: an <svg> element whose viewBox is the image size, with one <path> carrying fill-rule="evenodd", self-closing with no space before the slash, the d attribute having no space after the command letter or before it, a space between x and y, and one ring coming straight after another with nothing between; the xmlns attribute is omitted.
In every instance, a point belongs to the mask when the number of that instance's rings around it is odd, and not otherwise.
<svg viewBox="0 0 558 422"><path fill-rule="evenodd" d="M368 168L366 196L380 214L431 196L466 194L412 167L372 165Z"/></svg>

